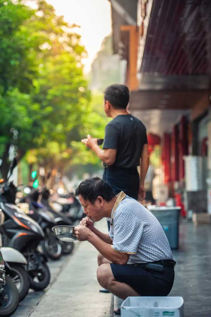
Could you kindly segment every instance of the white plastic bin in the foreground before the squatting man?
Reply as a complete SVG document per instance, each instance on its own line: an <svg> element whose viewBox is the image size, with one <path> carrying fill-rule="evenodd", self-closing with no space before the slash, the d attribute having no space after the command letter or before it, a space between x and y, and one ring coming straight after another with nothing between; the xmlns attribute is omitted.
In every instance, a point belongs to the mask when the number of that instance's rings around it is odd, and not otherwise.
<svg viewBox="0 0 211 317"><path fill-rule="evenodd" d="M128 297L121 305L121 317L182 317L183 298L178 297Z"/></svg>

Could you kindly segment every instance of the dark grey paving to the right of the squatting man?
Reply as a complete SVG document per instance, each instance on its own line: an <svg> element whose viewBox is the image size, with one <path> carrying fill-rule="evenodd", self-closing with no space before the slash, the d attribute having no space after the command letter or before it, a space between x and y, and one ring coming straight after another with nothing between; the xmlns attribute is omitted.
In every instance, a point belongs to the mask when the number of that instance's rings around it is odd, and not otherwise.
<svg viewBox="0 0 211 317"><path fill-rule="evenodd" d="M183 221L180 225L180 248L173 251L173 256L177 263L169 296L183 297L184 317L210 317L211 226L195 226ZM122 300L114 297L115 308L121 303Z"/></svg>

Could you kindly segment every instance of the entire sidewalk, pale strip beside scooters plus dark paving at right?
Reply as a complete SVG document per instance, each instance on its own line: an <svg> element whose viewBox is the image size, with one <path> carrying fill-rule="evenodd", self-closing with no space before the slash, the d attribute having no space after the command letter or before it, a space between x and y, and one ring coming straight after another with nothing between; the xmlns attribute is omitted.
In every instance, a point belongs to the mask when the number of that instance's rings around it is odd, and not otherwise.
<svg viewBox="0 0 211 317"><path fill-rule="evenodd" d="M96 225L99 230L107 232L105 221ZM88 242L76 244L74 255L30 317L110 316L112 296L99 293L100 286L96 280L97 251ZM180 249L173 251L177 264L170 296L183 297L184 317L211 316L210 250L211 226L181 224Z"/></svg>

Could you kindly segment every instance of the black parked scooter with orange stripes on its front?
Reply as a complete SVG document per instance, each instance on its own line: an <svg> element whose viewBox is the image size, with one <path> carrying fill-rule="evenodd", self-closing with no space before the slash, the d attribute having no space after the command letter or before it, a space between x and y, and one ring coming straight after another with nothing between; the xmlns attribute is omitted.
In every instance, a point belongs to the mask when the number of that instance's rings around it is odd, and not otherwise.
<svg viewBox="0 0 211 317"><path fill-rule="evenodd" d="M16 164L14 159L10 175ZM13 182L4 183L0 190L0 208L5 215L1 226L3 246L17 249L25 256L30 288L43 290L50 281L47 257L37 250L38 244L44 239L44 232L38 223L15 205L16 191Z"/></svg>

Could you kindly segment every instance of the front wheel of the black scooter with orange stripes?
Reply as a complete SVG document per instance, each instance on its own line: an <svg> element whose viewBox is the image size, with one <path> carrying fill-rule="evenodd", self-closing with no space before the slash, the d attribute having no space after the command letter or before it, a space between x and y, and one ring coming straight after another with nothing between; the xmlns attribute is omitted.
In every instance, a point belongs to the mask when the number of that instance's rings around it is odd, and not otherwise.
<svg viewBox="0 0 211 317"><path fill-rule="evenodd" d="M29 271L30 288L35 291L42 291L50 282L50 271L46 263L42 263L42 268Z"/></svg>

